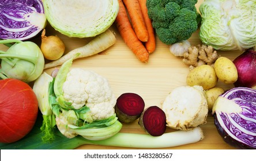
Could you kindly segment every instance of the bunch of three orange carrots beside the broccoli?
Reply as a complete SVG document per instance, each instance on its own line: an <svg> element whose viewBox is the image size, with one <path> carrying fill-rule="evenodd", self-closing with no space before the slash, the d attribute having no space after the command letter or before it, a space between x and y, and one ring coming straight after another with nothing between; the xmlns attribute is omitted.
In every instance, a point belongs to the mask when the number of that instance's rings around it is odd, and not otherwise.
<svg viewBox="0 0 256 161"><path fill-rule="evenodd" d="M146 0L118 1L119 12L115 20L116 27L135 56L141 62L146 63L149 53L155 51L156 48L155 31L148 17Z"/></svg>

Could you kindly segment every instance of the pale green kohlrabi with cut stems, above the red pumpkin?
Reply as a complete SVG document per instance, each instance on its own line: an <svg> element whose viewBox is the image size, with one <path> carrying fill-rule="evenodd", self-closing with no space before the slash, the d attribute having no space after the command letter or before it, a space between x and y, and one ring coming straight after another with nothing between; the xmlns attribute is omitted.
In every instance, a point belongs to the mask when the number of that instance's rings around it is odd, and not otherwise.
<svg viewBox="0 0 256 161"><path fill-rule="evenodd" d="M7 51L0 51L0 78L15 78L23 82L35 81L43 72L44 56L31 41L0 40L0 44L15 43Z"/></svg>

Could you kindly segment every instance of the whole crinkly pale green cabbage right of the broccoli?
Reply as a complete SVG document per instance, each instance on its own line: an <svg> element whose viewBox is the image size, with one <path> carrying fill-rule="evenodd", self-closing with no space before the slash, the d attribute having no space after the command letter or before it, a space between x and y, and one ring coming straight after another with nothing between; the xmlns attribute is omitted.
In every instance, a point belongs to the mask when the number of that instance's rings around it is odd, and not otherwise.
<svg viewBox="0 0 256 161"><path fill-rule="evenodd" d="M214 49L248 49L256 45L256 0L206 0L199 38Z"/></svg>

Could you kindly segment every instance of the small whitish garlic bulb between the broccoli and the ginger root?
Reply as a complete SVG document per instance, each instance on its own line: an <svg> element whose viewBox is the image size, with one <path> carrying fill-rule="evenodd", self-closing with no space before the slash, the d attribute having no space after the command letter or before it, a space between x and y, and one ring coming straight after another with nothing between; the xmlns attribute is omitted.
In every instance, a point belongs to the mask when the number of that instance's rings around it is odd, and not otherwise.
<svg viewBox="0 0 256 161"><path fill-rule="evenodd" d="M183 54L188 51L190 46L191 45L188 40L179 41L170 45L170 52L174 56L183 56Z"/></svg>

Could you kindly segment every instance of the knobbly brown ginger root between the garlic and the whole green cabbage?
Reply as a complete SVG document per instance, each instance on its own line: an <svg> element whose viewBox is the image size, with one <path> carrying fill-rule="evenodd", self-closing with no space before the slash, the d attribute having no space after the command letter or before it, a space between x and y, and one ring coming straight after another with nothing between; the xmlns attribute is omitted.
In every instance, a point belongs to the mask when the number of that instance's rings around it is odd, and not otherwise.
<svg viewBox="0 0 256 161"><path fill-rule="evenodd" d="M188 52L184 53L183 57L183 63L190 65L192 69L202 64L213 66L220 55L210 45L192 45L189 47Z"/></svg>

